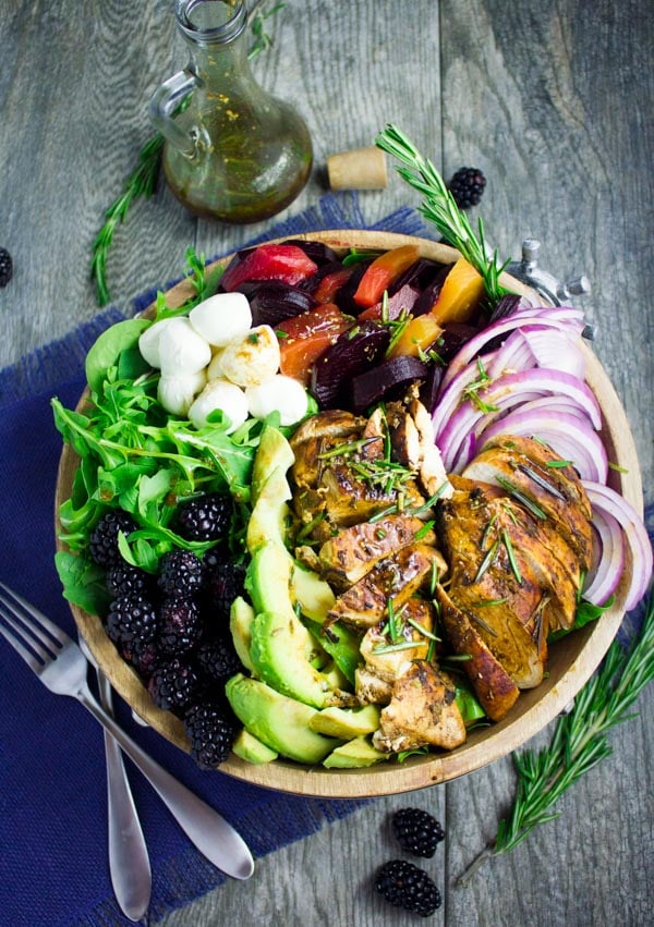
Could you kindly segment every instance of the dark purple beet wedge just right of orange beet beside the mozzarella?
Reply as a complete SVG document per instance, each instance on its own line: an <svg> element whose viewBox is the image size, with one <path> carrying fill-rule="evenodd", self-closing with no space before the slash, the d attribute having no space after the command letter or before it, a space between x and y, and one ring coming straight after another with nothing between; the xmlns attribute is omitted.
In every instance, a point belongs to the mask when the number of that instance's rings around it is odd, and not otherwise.
<svg viewBox="0 0 654 927"><path fill-rule="evenodd" d="M389 341L388 327L373 321L343 332L312 367L311 391L320 408L349 408L352 379L380 359Z"/></svg>

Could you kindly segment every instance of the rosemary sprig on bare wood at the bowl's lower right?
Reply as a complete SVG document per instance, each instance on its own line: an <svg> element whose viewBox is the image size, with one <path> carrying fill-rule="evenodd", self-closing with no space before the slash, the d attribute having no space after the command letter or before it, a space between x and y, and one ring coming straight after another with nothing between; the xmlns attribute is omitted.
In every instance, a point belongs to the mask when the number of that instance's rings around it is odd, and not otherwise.
<svg viewBox="0 0 654 927"><path fill-rule="evenodd" d="M634 717L629 708L654 679L654 590L641 634L629 648L614 641L601 669L583 686L569 715L559 717L548 746L513 754L518 791L510 815L500 820L494 843L458 879L465 886L488 858L514 850L538 825L555 820L554 805L570 785L611 754L606 734Z"/></svg>

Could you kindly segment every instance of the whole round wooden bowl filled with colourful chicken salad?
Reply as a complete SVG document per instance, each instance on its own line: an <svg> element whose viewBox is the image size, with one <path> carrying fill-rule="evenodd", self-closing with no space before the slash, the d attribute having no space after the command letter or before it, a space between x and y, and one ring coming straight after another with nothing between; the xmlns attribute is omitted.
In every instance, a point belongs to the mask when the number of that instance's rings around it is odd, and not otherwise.
<svg viewBox="0 0 654 927"><path fill-rule="evenodd" d="M205 768L327 796L460 776L560 711L645 591L581 312L455 244L191 254L97 340L77 408L53 400L64 595Z"/></svg>

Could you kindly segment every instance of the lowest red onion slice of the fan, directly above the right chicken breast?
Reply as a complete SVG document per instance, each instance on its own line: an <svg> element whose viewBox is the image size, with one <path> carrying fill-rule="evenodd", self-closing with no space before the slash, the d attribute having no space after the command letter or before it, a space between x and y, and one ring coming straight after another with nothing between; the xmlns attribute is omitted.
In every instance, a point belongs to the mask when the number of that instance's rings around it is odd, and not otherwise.
<svg viewBox="0 0 654 927"><path fill-rule="evenodd" d="M608 475L606 451L600 436L577 415L546 408L535 412L518 408L489 425L479 436L479 447L497 435L541 438L561 460L569 460L582 479L603 483Z"/></svg>

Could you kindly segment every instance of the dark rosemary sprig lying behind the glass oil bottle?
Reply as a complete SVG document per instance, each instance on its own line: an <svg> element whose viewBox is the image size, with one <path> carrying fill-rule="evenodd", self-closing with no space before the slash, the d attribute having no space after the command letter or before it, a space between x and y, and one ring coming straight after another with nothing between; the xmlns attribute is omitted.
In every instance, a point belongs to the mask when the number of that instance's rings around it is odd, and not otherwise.
<svg viewBox="0 0 654 927"><path fill-rule="evenodd" d="M254 40L247 52L250 60L271 47L272 38L265 31L265 21L283 10L284 7L286 3L276 3L270 10L266 12L257 10L252 16L250 28ZM96 298L99 306L106 306L111 298L107 285L107 255L113 241L113 233L117 227L125 221L130 207L137 199L142 196L149 199L155 193L161 167L164 142L164 136L156 132L140 150L136 167L128 175L120 196L106 210L105 222L93 243L90 278L95 280Z"/></svg>

